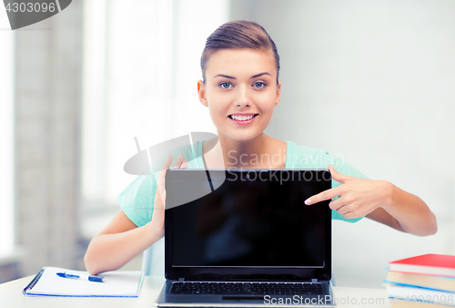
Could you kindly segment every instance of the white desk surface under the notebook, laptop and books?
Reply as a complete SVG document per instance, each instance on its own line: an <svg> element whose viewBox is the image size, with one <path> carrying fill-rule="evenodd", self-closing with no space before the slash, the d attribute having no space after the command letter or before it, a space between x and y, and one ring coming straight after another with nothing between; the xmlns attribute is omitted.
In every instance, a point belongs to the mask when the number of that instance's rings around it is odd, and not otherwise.
<svg viewBox="0 0 455 308"><path fill-rule="evenodd" d="M138 298L75 298L75 297L46 297L24 296L22 290L34 276L17 279L0 284L0 307L43 307L43 308L100 308L100 307L127 307L153 308L155 300L164 282L162 278L146 276ZM339 308L344 307L372 307L388 308L390 301L385 289L360 289L334 287L333 292L339 300ZM366 304L362 304L366 303ZM370 304L369 304L370 303ZM270 304L269 306L272 306Z"/></svg>

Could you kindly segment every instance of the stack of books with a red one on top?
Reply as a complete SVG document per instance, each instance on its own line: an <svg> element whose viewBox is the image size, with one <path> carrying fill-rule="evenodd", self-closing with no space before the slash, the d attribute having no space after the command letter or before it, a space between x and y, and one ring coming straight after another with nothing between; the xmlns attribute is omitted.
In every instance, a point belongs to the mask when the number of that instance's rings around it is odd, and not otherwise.
<svg viewBox="0 0 455 308"><path fill-rule="evenodd" d="M389 262L385 282L392 307L455 306L455 256L424 254Z"/></svg>

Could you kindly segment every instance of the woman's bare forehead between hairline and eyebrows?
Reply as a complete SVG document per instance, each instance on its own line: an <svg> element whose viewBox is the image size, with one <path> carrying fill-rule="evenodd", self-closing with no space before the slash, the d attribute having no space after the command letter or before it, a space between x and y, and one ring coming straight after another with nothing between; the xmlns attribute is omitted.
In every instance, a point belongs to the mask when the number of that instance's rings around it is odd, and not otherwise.
<svg viewBox="0 0 455 308"><path fill-rule="evenodd" d="M221 72L222 71L222 72ZM251 74L268 72L277 75L275 58L271 50L221 49L214 52L207 61L207 76L217 74Z"/></svg>

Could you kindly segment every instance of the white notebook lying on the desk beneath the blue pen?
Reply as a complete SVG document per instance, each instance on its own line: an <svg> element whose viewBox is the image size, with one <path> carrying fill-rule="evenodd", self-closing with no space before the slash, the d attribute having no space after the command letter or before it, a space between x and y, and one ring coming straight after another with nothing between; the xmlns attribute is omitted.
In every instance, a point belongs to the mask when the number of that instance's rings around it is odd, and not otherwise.
<svg viewBox="0 0 455 308"><path fill-rule="evenodd" d="M106 282L89 282L82 279L59 277L57 272L88 275L88 272L72 271L46 266L41 269L24 289L30 296L67 297L137 297L139 296L144 273L139 271L103 272L99 276Z"/></svg>

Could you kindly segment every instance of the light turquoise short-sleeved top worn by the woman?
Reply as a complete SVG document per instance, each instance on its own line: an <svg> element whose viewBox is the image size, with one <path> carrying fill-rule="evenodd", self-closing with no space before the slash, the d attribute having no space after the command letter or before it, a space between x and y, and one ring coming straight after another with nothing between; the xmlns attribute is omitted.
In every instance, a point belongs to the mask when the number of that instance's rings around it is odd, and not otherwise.
<svg viewBox="0 0 455 308"><path fill-rule="evenodd" d="M329 164L344 175L357 178L367 179L357 169L351 167L348 163L330 155L321 149L312 149L304 146L298 146L294 142L287 142L286 165L285 169L327 169ZM202 155L202 142L197 142L196 147L187 147L177 149L173 154L174 160L179 153L185 158L196 158L188 161L188 169L205 169ZM163 162L164 164L164 162ZM117 200L126 216L133 221L137 227L141 227L152 220L153 203L157 191L157 175L140 175L134 180L126 190L124 190ZM340 183L332 179L332 187L339 186ZM356 222L362 219L345 219L336 210L332 210L332 219L339 221Z"/></svg>

